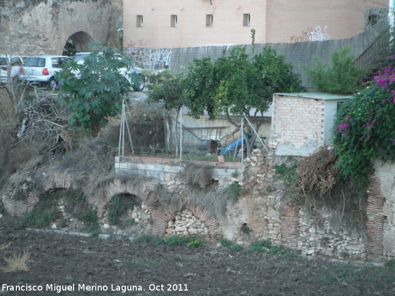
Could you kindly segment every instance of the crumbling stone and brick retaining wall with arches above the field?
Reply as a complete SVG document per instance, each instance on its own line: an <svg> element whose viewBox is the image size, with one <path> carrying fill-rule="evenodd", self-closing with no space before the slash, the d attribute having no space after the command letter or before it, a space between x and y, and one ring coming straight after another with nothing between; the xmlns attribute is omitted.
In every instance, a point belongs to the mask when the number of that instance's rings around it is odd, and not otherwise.
<svg viewBox="0 0 395 296"><path fill-rule="evenodd" d="M251 157L245 159L243 169L240 164L214 164L214 186L223 188L238 183L243 187L237 201L229 200L226 212L219 217L212 216L203 205L188 202L190 193L183 175L179 174L184 167L177 161L143 157L121 160L118 157L117 171L121 176L88 198L89 203L97 208L104 232L133 235L141 229L148 229L157 235L201 234L208 239L224 237L244 246L267 239L274 245L300 250L309 256L372 260L395 258L395 166L392 164L375 162L375 174L369 177L364 229L330 208L297 205L291 198L285 198L281 181L276 179L273 169L277 157L260 149L255 149ZM146 178L137 180L136 176ZM181 207L171 198L166 201L160 196L159 184L164 189L162 193L168 192L169 196L182 199ZM64 174L48 176L43 184L47 191L73 186L76 185L72 176ZM140 230L119 229L108 224L108 204L120 193L141 199L141 205L125 216L125 219L137 219ZM12 196L3 196L2 201L6 213L21 216L39 199L31 194L25 201L13 200Z"/></svg>

